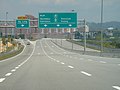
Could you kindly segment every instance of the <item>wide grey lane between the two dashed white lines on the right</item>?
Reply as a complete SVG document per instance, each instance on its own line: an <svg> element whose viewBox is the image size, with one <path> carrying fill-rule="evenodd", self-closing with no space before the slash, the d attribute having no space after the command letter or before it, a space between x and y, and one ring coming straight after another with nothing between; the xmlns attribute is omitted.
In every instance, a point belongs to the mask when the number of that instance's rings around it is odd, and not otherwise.
<svg viewBox="0 0 120 90"><path fill-rule="evenodd" d="M48 50L48 49L47 49ZM92 62L89 63L89 59L88 61L84 60L83 62L76 62L78 60L74 60L74 59L63 59L61 58L61 56L55 56L55 55L51 55L52 58L57 58L57 60L59 60L62 63L71 63L72 66L75 67L79 67L82 70L94 73L95 76L97 76L98 78L102 77L101 79L103 80L107 80L108 82L111 81L111 85L113 83L120 83L119 81L119 75L120 75L120 68L117 65L112 65L112 64L104 64L104 63L97 63L97 62ZM70 56L71 58L73 58L72 56ZM65 61L63 61L63 60ZM74 60L73 62L70 62L70 60ZM61 64L62 64L61 63ZM76 65L78 64L78 65ZM87 68L85 68L87 67ZM109 76L107 75L109 74Z"/></svg>

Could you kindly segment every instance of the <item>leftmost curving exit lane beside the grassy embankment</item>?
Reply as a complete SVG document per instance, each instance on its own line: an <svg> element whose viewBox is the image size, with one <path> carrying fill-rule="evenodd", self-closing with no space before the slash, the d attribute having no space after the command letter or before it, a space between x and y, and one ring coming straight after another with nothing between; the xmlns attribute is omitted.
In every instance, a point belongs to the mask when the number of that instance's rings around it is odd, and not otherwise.
<svg viewBox="0 0 120 90"><path fill-rule="evenodd" d="M17 65L22 63L25 59L27 59L30 56L32 50L33 45L26 46L24 51L17 57L0 62L0 78L9 73L9 71L14 69L14 67L17 67Z"/></svg>

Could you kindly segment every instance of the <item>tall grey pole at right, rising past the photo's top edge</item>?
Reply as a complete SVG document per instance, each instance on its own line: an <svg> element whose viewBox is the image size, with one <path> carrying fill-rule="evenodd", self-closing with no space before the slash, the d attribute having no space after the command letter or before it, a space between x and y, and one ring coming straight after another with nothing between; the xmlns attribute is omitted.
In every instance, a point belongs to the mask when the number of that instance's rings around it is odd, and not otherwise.
<svg viewBox="0 0 120 90"><path fill-rule="evenodd" d="M101 0L101 54L103 52L103 0Z"/></svg>

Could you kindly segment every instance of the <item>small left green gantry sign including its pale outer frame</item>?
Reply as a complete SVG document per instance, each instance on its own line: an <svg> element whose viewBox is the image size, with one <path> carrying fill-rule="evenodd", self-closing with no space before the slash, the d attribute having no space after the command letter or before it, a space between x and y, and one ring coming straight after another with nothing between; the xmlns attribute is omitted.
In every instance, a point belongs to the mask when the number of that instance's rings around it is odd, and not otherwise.
<svg viewBox="0 0 120 90"><path fill-rule="evenodd" d="M26 22L27 22L27 24L26 24ZM16 19L15 27L17 29L28 29L28 28L30 28L30 20L29 19Z"/></svg>

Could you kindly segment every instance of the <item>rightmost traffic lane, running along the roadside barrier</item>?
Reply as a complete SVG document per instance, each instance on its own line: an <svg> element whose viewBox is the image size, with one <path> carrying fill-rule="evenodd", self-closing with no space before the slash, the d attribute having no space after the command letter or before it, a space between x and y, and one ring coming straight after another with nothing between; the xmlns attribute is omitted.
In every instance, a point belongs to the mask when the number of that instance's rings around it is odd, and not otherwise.
<svg viewBox="0 0 120 90"><path fill-rule="evenodd" d="M51 49L51 53L53 54L60 54L63 56L66 56L68 58L74 58L74 59L84 59L87 61L94 61L94 62L98 62L98 63L107 63L107 64L113 64L113 65L118 65L120 64L120 60L118 58L114 59L114 58L106 58L106 57L94 57L94 56L89 56L89 55L80 55L80 54L76 54L76 53L69 53L68 51L65 52L65 50L59 50L59 47L54 45L54 48L52 47L53 43L50 43L49 41L45 41L46 45ZM56 48L55 48L56 47ZM59 51L60 52L59 52ZM72 55L72 56L71 56Z"/></svg>

